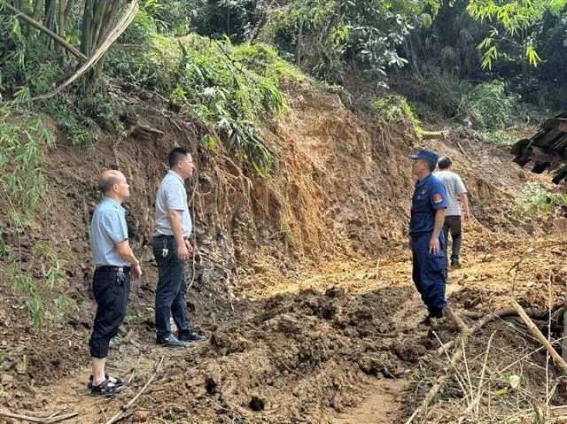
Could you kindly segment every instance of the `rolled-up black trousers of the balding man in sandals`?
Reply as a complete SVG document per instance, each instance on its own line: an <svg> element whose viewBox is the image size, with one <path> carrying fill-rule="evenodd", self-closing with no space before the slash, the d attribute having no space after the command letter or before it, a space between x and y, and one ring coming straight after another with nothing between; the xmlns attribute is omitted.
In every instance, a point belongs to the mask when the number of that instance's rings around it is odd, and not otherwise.
<svg viewBox="0 0 567 424"><path fill-rule="evenodd" d="M126 316L130 292L130 271L113 267L97 268L92 280L97 314L89 340L90 356L106 358L108 346Z"/></svg>

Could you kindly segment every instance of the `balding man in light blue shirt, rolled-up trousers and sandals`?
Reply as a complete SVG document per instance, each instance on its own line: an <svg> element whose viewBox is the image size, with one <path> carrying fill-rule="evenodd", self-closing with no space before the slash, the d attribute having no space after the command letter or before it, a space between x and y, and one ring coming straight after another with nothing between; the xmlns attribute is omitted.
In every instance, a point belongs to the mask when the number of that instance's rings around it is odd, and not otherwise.
<svg viewBox="0 0 567 424"><path fill-rule="evenodd" d="M93 396L113 395L126 387L119 378L105 374L110 340L118 330L128 305L130 275L140 278L140 263L128 243L126 212L121 204L130 196L126 178L119 171L105 171L98 178L98 189L105 198L98 204L90 223L90 249L96 269L92 292L97 314L89 340L92 374L89 379Z"/></svg>

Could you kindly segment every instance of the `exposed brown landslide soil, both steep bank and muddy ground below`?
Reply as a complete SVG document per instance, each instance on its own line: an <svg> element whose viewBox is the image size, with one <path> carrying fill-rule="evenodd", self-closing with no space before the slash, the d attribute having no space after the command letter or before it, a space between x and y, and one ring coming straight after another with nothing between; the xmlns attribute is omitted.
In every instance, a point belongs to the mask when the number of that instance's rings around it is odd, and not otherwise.
<svg viewBox="0 0 567 424"><path fill-rule="evenodd" d="M37 279L42 264L33 246L58 251L74 305L64 321L33 335L26 299L0 277L2 409L35 416L69 410L80 412L71 422L104 423L163 357L124 422L394 423L408 417L423 395L416 393L418 370L439 346L417 327L424 311L406 247L413 186L408 153L418 146L404 123L348 111L335 96L293 98L291 111L265 127L280 166L269 179L248 175L222 151L194 147L199 173L189 189L198 255L188 266L188 307L209 341L184 351L152 343L151 211L166 171L164 153L178 143L196 146L204 129L166 105L159 113L140 106L137 121L165 135L135 126L120 143L101 138L88 161L62 137L57 150L46 151L50 188L43 207L23 234L7 241L18 246L23 271ZM551 275L552 302L559 303L567 278L563 241L512 213L514 196L532 177L511 164L506 150L468 137L426 142L455 159L476 215L465 227L464 266L450 274L450 302L486 311L505 305L514 289L524 305L545 306ZM86 228L98 200L94 181L109 166L131 181L128 230L145 275L109 358L112 374L132 377L130 388L96 399L86 389L94 311ZM518 272L510 274L519 258ZM454 336L448 322L436 331Z"/></svg>

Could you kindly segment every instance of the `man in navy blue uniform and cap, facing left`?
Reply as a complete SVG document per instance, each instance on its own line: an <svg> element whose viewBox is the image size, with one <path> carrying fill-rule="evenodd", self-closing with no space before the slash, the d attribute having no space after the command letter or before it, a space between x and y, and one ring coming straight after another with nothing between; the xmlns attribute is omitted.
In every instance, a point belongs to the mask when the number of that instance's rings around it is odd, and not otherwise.
<svg viewBox="0 0 567 424"><path fill-rule="evenodd" d="M414 261L412 277L429 311L421 324L429 326L431 318L441 318L447 306L443 252L445 237L442 231L447 196L443 182L432 174L439 155L432 150L422 149L409 158L413 159L412 173L418 178L409 221L409 243Z"/></svg>

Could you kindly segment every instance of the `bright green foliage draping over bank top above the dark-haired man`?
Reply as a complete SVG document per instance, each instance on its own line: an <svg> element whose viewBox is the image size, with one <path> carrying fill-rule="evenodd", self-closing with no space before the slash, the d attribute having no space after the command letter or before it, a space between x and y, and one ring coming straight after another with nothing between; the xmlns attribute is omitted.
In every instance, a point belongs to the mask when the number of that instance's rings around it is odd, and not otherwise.
<svg viewBox="0 0 567 424"><path fill-rule="evenodd" d="M133 82L167 93L172 103L202 120L230 151L240 152L255 172L268 174L274 154L258 122L287 108L278 89L281 82L305 77L279 58L276 50L261 44L234 46L228 38L213 41L198 35L173 40L155 32L151 42L155 49L123 56L118 67L108 66L109 71L132 81L140 73L130 72L142 62L143 77ZM136 65L128 64L130 58ZM166 62L168 66L163 66ZM206 144L214 143L209 138Z"/></svg>

